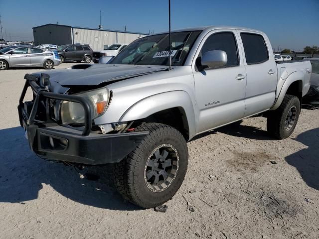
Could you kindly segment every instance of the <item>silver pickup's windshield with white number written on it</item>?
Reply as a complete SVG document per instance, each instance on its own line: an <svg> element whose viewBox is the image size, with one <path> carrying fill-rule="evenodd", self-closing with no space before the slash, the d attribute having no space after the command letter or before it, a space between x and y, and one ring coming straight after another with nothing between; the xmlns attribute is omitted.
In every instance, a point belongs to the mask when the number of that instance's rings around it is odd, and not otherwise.
<svg viewBox="0 0 319 239"><path fill-rule="evenodd" d="M181 66L200 31L171 33L171 65ZM123 49L111 64L169 65L168 34L146 36Z"/></svg>

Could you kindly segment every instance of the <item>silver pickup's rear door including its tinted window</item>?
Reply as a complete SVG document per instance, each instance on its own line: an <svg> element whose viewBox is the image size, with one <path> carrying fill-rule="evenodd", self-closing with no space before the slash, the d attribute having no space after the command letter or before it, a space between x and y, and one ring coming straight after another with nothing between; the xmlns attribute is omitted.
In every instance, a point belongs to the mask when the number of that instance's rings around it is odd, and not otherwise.
<svg viewBox="0 0 319 239"><path fill-rule="evenodd" d="M256 32L238 33L242 40L246 66L245 117L266 111L275 102L277 65L266 35Z"/></svg>

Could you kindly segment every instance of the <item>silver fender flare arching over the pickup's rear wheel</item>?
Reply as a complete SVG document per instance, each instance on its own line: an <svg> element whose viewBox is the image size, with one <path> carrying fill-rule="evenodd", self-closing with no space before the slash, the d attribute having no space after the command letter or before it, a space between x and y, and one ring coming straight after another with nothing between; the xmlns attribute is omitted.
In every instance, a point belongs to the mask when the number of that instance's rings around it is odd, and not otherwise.
<svg viewBox="0 0 319 239"><path fill-rule="evenodd" d="M283 99L287 93L288 88L293 84L294 82L301 81L302 84L299 85L299 90L301 93L303 92L303 79L304 79L304 73L302 71L295 71L291 73L287 79L285 80L284 85L282 86L279 96L277 100L275 101L274 105L272 108L270 108L271 111L277 110L278 107L280 107L281 103L283 102ZM279 81L282 81L283 79L280 78Z"/></svg>

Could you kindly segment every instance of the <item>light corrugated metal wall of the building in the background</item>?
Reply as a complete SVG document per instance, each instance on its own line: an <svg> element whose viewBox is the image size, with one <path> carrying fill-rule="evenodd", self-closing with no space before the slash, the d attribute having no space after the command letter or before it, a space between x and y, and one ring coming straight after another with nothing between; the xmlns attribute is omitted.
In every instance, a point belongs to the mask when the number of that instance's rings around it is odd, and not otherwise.
<svg viewBox="0 0 319 239"><path fill-rule="evenodd" d="M128 44L142 36L146 35L73 28L74 44L88 44L94 51L103 50L104 45Z"/></svg>

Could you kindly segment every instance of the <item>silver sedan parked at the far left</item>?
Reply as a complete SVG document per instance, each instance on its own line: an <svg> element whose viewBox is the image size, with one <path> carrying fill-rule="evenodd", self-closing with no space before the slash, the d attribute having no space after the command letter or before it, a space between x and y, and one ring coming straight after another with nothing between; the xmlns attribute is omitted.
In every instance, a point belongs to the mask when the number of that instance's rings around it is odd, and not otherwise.
<svg viewBox="0 0 319 239"><path fill-rule="evenodd" d="M0 70L9 67L36 67L52 69L60 65L57 52L31 46L8 46L0 50Z"/></svg>

